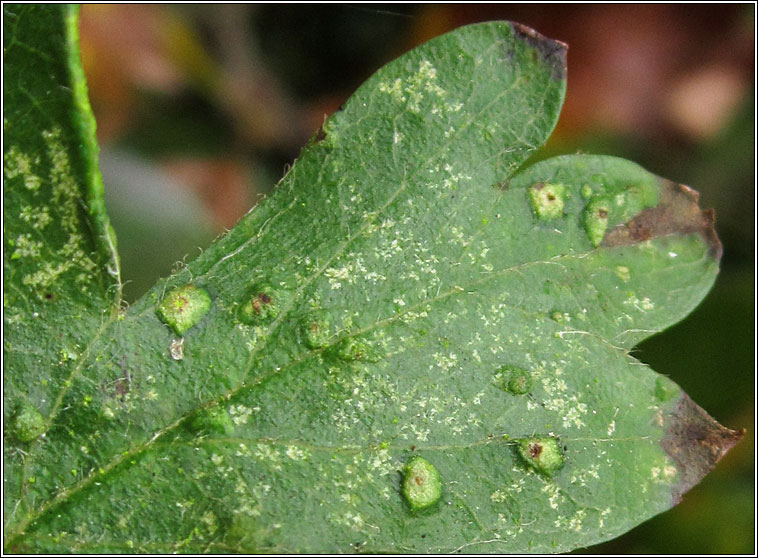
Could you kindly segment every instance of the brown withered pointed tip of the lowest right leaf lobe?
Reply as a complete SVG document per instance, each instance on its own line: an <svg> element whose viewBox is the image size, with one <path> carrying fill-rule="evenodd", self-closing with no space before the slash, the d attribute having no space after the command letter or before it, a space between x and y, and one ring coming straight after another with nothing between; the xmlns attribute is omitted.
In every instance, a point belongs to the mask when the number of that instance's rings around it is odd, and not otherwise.
<svg viewBox="0 0 758 558"><path fill-rule="evenodd" d="M736 431L721 426L689 396L682 396L667 418L666 435L661 440L661 446L679 471L679 481L671 494L674 505L715 467L744 433L744 429Z"/></svg>

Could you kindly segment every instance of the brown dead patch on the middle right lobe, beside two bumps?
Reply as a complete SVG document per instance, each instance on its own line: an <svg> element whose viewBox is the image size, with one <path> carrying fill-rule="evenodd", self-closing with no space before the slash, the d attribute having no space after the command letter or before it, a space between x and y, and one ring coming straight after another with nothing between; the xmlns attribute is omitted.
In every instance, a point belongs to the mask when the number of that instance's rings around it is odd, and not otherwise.
<svg viewBox="0 0 758 558"><path fill-rule="evenodd" d="M622 246L669 234L700 234L708 244L708 254L718 261L722 247L713 228L715 214L712 209L701 210L698 198L692 188L661 179L658 205L609 230L602 244Z"/></svg>

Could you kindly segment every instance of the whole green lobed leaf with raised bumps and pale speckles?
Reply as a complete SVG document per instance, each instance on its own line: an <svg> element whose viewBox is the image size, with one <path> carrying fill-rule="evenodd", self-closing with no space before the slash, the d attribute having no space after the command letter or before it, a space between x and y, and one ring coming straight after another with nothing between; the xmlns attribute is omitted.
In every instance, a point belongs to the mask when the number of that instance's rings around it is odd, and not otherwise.
<svg viewBox="0 0 758 558"><path fill-rule="evenodd" d="M739 439L630 354L714 281L697 195L612 157L522 168L561 43L483 23L388 64L123 312L74 11L4 9L7 551L565 551Z"/></svg>

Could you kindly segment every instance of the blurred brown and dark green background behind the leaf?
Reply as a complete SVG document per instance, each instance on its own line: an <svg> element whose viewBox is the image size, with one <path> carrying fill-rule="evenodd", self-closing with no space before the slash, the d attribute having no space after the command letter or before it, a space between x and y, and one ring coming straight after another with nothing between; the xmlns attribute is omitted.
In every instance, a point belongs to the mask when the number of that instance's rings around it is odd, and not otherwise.
<svg viewBox="0 0 758 558"><path fill-rule="evenodd" d="M636 355L743 442L674 510L592 553L754 553L754 4L84 5L81 46L126 297L192 259L373 71L509 19L569 44L544 156L632 159L714 207L722 273Z"/></svg>

